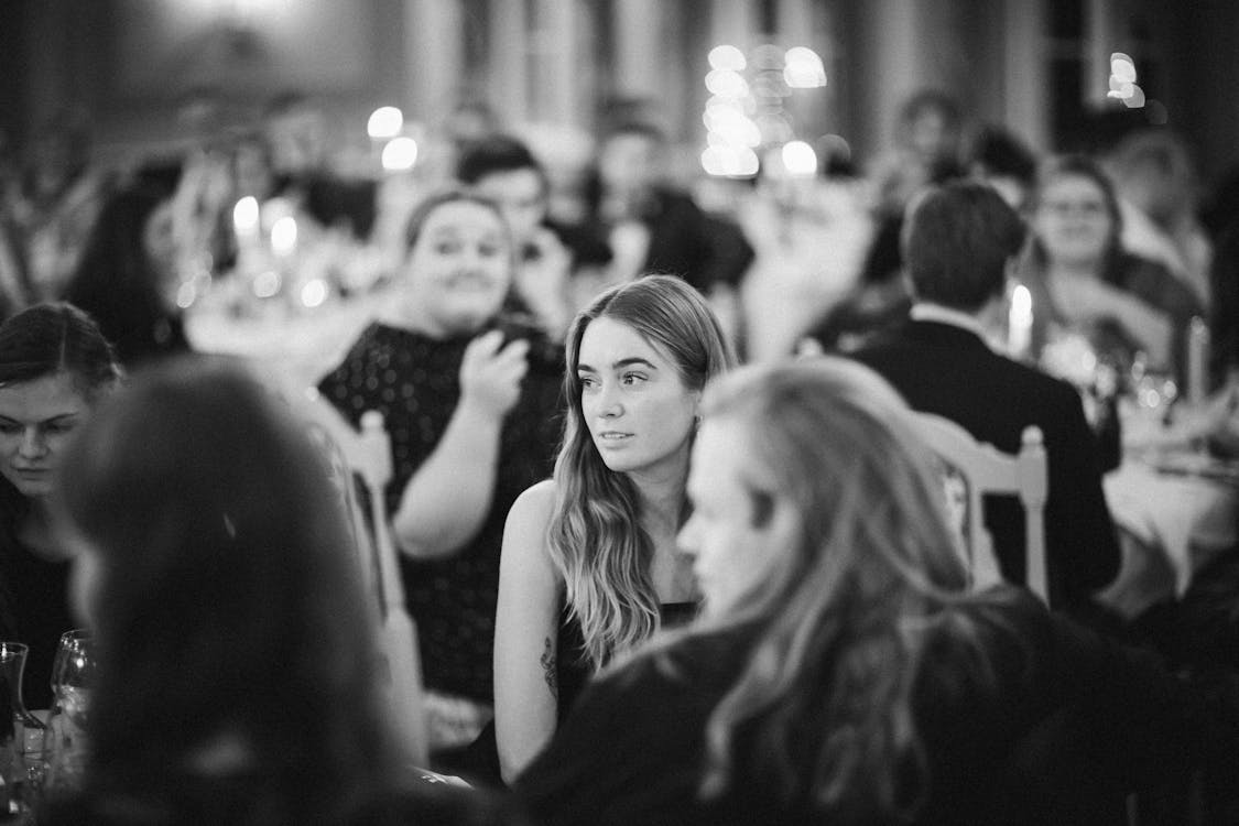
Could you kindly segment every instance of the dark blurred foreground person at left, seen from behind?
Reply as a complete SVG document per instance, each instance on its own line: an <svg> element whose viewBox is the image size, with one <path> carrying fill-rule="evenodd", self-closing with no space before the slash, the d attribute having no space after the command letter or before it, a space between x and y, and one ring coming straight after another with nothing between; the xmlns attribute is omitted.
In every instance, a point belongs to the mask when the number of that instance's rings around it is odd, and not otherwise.
<svg viewBox="0 0 1239 826"><path fill-rule="evenodd" d="M411 785L326 464L242 368L139 374L59 480L99 670L81 789L41 824L499 822Z"/></svg>

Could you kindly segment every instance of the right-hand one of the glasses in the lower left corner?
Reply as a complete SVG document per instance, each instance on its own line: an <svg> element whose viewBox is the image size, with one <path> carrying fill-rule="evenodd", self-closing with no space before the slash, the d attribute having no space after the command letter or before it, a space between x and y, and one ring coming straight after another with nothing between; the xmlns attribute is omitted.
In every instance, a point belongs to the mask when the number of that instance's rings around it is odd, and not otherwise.
<svg viewBox="0 0 1239 826"><path fill-rule="evenodd" d="M43 786L73 786L85 768L85 722L94 684L94 640L84 629L61 634L52 660L52 708L43 736Z"/></svg>

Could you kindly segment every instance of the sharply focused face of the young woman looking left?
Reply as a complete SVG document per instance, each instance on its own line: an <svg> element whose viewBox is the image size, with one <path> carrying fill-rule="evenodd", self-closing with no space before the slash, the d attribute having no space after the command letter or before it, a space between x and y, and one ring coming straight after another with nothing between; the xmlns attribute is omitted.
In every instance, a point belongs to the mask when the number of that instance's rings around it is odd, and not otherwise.
<svg viewBox="0 0 1239 826"><path fill-rule="evenodd" d="M585 424L608 468L654 471L688 457L701 393L636 329L613 318L590 322L576 374Z"/></svg>

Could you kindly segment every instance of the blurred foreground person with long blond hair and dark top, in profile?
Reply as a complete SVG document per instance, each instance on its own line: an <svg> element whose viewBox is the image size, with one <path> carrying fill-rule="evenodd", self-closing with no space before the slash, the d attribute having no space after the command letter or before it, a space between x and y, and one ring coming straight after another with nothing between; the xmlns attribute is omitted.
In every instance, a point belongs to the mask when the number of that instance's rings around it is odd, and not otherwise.
<svg viewBox="0 0 1239 826"><path fill-rule="evenodd" d="M705 612L593 684L518 779L544 822L1098 824L1146 774L1233 759L1234 705L1021 589L968 591L876 374L750 367L703 414L680 542Z"/></svg>

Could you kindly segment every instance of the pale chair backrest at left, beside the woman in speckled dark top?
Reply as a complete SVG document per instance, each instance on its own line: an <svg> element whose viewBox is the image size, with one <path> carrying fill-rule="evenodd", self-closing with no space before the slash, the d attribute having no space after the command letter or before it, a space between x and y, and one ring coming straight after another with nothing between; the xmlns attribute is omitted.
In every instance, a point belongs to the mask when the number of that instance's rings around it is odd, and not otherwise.
<svg viewBox="0 0 1239 826"><path fill-rule="evenodd" d="M315 441L327 451L351 516L358 563L364 572L363 581L375 594L393 716L400 727L409 759L416 765L426 765L421 660L416 630L405 607L400 562L387 509L385 488L392 479L392 445L384 430L383 415L377 410L364 412L362 430L358 432L317 390L311 388L305 395L304 404L297 404L297 412L305 419ZM368 514L363 513L354 495L354 474L366 485Z"/></svg>

